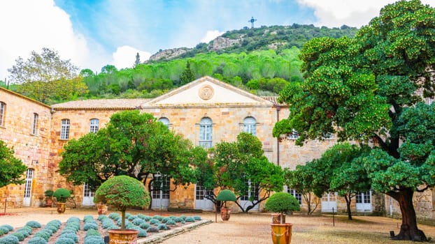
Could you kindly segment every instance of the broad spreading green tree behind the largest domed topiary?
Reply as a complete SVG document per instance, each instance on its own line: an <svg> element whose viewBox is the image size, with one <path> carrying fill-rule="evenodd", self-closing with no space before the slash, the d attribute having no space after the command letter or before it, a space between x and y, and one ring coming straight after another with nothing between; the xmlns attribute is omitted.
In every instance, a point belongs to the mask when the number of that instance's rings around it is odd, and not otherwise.
<svg viewBox="0 0 435 244"><path fill-rule="evenodd" d="M206 159L204 149L138 110L113 114L106 128L71 139L64 149L60 173L76 185L88 182L92 188L114 175L142 181L154 179L157 172L173 178L176 186L195 183L193 166Z"/></svg>

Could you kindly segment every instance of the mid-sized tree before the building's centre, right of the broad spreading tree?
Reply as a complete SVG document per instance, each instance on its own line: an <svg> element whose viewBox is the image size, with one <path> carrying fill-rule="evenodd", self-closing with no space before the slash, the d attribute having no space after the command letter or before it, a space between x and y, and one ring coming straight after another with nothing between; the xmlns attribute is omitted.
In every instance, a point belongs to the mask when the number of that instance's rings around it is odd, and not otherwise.
<svg viewBox="0 0 435 244"><path fill-rule="evenodd" d="M241 132L236 142L220 142L211 154L212 164L202 167L203 178L199 181L213 188L234 190L237 199L248 196L250 192L249 206L241 206L236 201L241 211L248 212L269 198L271 192L283 190L282 169L264 156L262 142L254 135ZM215 196L208 198L215 201Z"/></svg>

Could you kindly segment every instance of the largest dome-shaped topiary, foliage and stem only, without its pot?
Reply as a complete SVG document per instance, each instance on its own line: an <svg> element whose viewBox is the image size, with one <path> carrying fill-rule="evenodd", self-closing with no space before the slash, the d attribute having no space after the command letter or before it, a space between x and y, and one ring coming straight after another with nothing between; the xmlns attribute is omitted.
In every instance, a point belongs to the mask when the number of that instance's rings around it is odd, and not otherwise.
<svg viewBox="0 0 435 244"><path fill-rule="evenodd" d="M141 181L130 176L109 178L95 192L94 203L103 202L121 211L121 229L125 229L125 211L150 204L150 195Z"/></svg>

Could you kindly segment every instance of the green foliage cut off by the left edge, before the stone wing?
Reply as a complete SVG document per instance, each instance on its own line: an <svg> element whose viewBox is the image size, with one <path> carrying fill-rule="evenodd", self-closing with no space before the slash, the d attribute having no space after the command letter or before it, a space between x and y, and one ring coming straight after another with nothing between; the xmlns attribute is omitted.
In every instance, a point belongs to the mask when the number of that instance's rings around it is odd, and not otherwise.
<svg viewBox="0 0 435 244"><path fill-rule="evenodd" d="M0 140L0 188L9 184L22 184L22 175L27 170L21 160L15 158L13 149Z"/></svg>

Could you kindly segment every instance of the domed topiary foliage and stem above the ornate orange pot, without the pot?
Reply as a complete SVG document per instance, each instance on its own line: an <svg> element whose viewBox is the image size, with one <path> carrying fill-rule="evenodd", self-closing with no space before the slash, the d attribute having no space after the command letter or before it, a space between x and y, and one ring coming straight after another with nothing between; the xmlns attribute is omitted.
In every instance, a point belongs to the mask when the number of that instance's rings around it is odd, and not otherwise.
<svg viewBox="0 0 435 244"><path fill-rule="evenodd" d="M289 211L300 211L301 207L299 206L297 199L290 193L278 192L267 199L266 204L264 204L264 209L266 209L266 211L280 213L280 223L283 224L284 213Z"/></svg>

